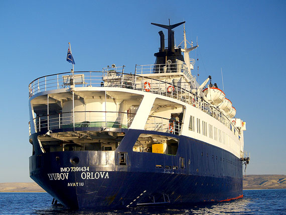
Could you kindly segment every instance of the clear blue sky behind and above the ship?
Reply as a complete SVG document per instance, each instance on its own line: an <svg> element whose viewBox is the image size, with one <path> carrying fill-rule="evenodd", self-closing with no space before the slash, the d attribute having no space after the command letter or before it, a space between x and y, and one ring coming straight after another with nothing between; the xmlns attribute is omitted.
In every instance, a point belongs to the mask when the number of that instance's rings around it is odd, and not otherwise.
<svg viewBox="0 0 286 215"><path fill-rule="evenodd" d="M212 75L247 122L247 174L286 174L285 1L0 1L0 182L30 182L28 84L115 63L153 64L159 27L186 21L199 48L200 81ZM167 31L165 31L167 35ZM178 45L183 28L175 29ZM195 42L196 43L196 42ZM195 72L195 74L197 71Z"/></svg>

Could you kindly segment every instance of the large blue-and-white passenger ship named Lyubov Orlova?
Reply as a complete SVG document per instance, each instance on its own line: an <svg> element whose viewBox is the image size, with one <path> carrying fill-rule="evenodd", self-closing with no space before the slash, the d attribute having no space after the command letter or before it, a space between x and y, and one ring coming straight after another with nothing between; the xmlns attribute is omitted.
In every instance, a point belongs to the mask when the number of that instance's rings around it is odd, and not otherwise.
<svg viewBox="0 0 286 215"><path fill-rule="evenodd" d="M132 73L46 75L29 84L30 177L67 208L128 208L243 197L246 122L211 76L199 84L185 22L161 30L155 63ZM184 24L184 48L173 29ZM127 72L126 72L127 70Z"/></svg>

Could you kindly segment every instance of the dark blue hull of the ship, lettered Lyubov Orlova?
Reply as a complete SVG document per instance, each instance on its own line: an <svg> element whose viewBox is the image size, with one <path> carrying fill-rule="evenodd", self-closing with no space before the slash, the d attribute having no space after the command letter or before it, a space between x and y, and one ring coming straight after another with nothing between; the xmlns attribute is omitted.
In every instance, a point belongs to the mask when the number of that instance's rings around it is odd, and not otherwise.
<svg viewBox="0 0 286 215"><path fill-rule="evenodd" d="M176 205L242 197L242 163L233 154L184 136L176 136L180 139L176 156L133 152L140 133L175 135L120 131L126 135L115 151L36 153L30 157L31 178L69 208L130 207L152 199ZM32 135L35 151L38 135ZM119 164L120 153L126 154L126 165ZM74 157L80 159L76 165L70 162Z"/></svg>

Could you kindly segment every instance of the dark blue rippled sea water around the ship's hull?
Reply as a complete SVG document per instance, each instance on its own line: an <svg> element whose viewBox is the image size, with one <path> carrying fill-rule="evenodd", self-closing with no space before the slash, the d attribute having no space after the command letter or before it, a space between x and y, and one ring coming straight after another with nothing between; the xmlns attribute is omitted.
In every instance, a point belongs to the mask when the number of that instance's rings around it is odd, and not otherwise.
<svg viewBox="0 0 286 215"><path fill-rule="evenodd" d="M286 189L244 190L242 199L192 206L137 207L126 210L70 211L51 206L47 193L0 193L0 214L286 214Z"/></svg>

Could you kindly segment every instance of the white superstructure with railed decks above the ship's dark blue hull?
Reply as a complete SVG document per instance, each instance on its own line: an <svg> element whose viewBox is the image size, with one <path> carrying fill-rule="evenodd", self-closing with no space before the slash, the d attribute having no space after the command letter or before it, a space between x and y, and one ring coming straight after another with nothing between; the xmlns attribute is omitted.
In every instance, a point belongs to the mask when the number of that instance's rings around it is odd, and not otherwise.
<svg viewBox="0 0 286 215"><path fill-rule="evenodd" d="M71 126L177 132L241 157L245 122L232 119L236 110L221 89L207 84L210 76L199 85L189 55L198 45L187 48L185 31L184 42L186 63L136 65L135 74L112 65L35 79L29 85L31 133Z"/></svg>

